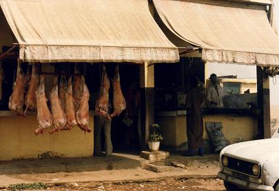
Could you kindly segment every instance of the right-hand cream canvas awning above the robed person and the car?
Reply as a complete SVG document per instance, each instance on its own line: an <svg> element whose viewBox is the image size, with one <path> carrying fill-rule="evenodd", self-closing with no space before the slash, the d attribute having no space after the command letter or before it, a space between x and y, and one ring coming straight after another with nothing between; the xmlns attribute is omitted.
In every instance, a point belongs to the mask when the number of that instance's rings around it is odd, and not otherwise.
<svg viewBox="0 0 279 191"><path fill-rule="evenodd" d="M279 38L265 6L214 0L153 0L177 37L203 48L206 62L279 66Z"/></svg>

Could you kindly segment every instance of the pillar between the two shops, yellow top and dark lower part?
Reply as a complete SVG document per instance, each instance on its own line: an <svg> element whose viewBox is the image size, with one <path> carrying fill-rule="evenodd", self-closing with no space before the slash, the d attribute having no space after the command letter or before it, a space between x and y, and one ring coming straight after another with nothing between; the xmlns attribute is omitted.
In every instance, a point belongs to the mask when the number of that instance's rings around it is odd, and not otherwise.
<svg viewBox="0 0 279 191"><path fill-rule="evenodd" d="M141 73L141 150L147 148L149 126L154 123L154 64L145 62Z"/></svg>

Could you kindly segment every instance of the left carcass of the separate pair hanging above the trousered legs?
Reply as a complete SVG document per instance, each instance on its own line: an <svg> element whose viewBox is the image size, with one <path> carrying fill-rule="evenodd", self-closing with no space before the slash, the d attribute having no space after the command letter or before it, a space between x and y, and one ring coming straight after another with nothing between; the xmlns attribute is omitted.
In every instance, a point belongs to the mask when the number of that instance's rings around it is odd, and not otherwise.
<svg viewBox="0 0 279 191"><path fill-rule="evenodd" d="M99 99L96 101L95 109L99 115L107 119L111 118L109 114L109 90L110 90L110 79L107 77L105 66L103 66L100 94L99 94Z"/></svg>

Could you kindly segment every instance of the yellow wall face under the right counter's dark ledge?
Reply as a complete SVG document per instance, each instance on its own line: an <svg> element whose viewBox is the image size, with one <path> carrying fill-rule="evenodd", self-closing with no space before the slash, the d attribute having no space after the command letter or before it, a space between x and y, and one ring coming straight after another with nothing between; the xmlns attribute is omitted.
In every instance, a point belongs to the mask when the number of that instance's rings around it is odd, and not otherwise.
<svg viewBox="0 0 279 191"><path fill-rule="evenodd" d="M179 115L176 117L157 117L161 125L161 132L164 140L163 145L179 146L187 142L186 117ZM204 122L222 122L223 133L230 143L253 140L256 135L257 121L254 117L240 117L232 115L205 115ZM205 125L204 125L205 127ZM206 130L204 139L209 140Z"/></svg>

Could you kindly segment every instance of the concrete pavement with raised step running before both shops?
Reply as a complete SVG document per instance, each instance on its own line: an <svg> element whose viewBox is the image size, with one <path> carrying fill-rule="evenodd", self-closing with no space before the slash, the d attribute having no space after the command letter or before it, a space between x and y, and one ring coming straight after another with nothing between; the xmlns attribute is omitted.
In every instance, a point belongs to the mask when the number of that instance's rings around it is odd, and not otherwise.
<svg viewBox="0 0 279 191"><path fill-rule="evenodd" d="M183 182L177 178L216 177L218 173L218 154L205 155L205 157L181 157L179 154L171 154L170 161L182 163L186 168L171 168L167 172L152 172L143 169L148 163L145 159L133 154L114 154L114 157L93 157L86 159L42 159L33 161L9 161L0 163L0 188L6 188L15 183L44 182L48 185L71 184L71 183L105 183L110 190L110 183L123 181L159 181L160 185L174 187L183 186ZM89 171L90 170L90 171ZM40 171L42 173L40 173ZM163 181L167 179L167 181ZM201 181L197 183L197 180ZM189 185L208 183L205 179L192 179ZM214 181L219 185L220 181ZM210 181L209 181L210 182ZM107 184L108 183L108 184ZM192 184L191 184L192 183ZM211 183L209 183L211 184ZM128 183L127 188L136 186ZM118 185L117 185L118 186ZM121 185L119 185L121 190ZM147 188L154 186L147 183ZM186 186L186 185L185 185ZM180 189L178 188L177 189ZM118 187L117 187L118 188ZM135 187L136 188L136 187ZM221 189L222 187L220 187ZM95 188L90 188L95 189ZM133 188L134 189L134 188ZM163 187L162 187L163 189ZM186 187L183 189L186 189ZM187 188L188 189L188 188ZM98 190L98 189L97 189ZM152 190L154 190L152 188Z"/></svg>

